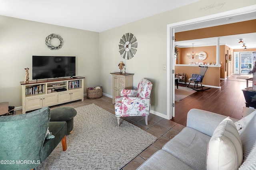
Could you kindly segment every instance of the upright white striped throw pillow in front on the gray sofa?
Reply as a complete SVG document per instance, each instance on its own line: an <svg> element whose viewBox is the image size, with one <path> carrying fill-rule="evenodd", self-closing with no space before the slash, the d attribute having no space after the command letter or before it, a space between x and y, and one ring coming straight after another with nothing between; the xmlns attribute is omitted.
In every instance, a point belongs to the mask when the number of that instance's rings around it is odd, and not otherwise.
<svg viewBox="0 0 256 170"><path fill-rule="evenodd" d="M237 170L243 162L243 149L234 122L227 117L208 143L206 170Z"/></svg>

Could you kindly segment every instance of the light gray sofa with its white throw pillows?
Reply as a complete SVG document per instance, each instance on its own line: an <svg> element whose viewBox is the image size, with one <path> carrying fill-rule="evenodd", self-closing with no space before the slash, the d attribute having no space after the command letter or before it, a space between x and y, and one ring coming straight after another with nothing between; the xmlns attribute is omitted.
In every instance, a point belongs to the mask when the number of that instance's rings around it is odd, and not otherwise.
<svg viewBox="0 0 256 170"><path fill-rule="evenodd" d="M191 109L187 126L138 170L256 169L256 111L231 119Z"/></svg>

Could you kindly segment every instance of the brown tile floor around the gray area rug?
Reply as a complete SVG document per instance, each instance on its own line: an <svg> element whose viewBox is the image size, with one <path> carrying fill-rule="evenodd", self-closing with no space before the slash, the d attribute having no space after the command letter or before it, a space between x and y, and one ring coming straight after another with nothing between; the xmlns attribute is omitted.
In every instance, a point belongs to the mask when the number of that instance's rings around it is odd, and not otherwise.
<svg viewBox="0 0 256 170"><path fill-rule="evenodd" d="M75 108L92 103L99 107L102 107L103 109L109 111L112 114L115 114L114 104L112 104L112 98L108 98L106 96L102 96L99 99L88 99L85 97L84 101L70 102L67 104L52 106L50 108L54 109L56 107L65 106ZM21 113L21 110L16 111L16 114ZM145 149L138 156L136 156L136 158L134 158L131 162L126 164L126 166L124 166L122 170L136 170L136 168L138 168L145 160L147 160L157 150L162 149L165 143L167 143L185 127L184 125L175 123L174 121L170 121L153 114L150 114L148 116L148 125L145 125L145 118L142 116L122 118L158 138L152 145L150 145L147 149Z"/></svg>

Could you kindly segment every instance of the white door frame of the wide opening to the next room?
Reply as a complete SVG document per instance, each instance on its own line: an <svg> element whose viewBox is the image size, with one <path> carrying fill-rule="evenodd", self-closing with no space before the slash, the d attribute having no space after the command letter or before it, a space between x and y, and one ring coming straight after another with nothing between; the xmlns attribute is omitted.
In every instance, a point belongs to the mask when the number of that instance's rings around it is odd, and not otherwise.
<svg viewBox="0 0 256 170"><path fill-rule="evenodd" d="M167 119L172 119L175 116L174 114L174 34L175 28L184 26L184 25L191 25L193 28L194 23L202 23L204 21L211 21L220 18L229 18L232 16L238 16L241 14L248 14L250 12L256 11L256 5L247 6L244 8L239 8L236 10L231 10L227 12L221 12L218 14L213 14L210 16L204 16L200 18L195 18L192 20L181 21L177 23L171 23L167 25ZM234 21L235 22L235 21ZM207 25L205 25L207 27ZM173 37L172 37L173 36ZM173 40L172 40L173 39Z"/></svg>

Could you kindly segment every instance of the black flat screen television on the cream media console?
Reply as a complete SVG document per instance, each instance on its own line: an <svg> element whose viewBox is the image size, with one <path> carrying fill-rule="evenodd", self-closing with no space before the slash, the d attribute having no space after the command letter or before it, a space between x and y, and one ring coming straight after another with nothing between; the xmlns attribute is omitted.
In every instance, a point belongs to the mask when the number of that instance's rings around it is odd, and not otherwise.
<svg viewBox="0 0 256 170"><path fill-rule="evenodd" d="M76 57L32 56L32 79L76 76Z"/></svg>

